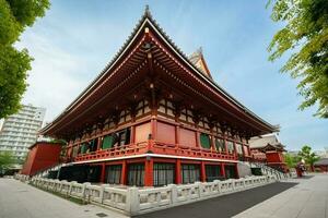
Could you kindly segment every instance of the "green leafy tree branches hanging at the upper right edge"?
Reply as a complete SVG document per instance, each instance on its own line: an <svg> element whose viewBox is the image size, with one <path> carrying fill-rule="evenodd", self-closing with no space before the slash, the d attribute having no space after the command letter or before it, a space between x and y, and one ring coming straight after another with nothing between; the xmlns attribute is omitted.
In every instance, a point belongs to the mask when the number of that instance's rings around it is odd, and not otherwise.
<svg viewBox="0 0 328 218"><path fill-rule="evenodd" d="M271 19L285 26L272 38L269 60L292 53L281 72L301 78L300 109L318 105L316 116L328 118L328 1L269 0Z"/></svg>

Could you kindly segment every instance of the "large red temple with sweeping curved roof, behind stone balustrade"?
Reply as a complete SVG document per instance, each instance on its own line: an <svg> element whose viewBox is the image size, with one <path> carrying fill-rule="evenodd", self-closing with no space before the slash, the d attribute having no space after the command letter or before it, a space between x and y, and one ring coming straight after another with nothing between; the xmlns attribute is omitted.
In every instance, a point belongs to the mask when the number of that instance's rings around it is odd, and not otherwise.
<svg viewBox="0 0 328 218"><path fill-rule="evenodd" d="M114 60L40 134L68 142L59 179L160 186L238 178L248 140L277 131L147 9Z"/></svg>

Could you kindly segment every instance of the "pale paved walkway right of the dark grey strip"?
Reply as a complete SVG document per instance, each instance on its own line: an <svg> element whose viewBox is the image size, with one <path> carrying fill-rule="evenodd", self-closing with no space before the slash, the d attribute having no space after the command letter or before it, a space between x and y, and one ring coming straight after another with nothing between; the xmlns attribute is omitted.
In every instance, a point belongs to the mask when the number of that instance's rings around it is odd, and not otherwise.
<svg viewBox="0 0 328 218"><path fill-rule="evenodd" d="M328 218L328 174L291 181L300 184L235 218Z"/></svg>

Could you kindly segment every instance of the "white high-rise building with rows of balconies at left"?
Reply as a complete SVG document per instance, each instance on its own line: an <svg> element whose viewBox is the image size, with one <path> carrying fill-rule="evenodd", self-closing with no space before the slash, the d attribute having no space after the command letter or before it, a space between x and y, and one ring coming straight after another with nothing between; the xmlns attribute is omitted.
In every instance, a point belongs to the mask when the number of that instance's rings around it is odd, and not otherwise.
<svg viewBox="0 0 328 218"><path fill-rule="evenodd" d="M0 152L12 152L17 159L23 159L37 140L45 113L45 108L24 105L17 113L4 119L0 131Z"/></svg>

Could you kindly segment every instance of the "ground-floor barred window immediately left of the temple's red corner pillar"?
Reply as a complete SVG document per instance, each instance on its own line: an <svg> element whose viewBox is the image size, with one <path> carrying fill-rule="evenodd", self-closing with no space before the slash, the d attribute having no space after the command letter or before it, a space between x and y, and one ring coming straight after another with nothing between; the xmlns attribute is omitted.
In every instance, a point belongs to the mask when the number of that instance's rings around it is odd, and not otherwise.
<svg viewBox="0 0 328 218"><path fill-rule="evenodd" d="M128 165L128 185L143 186L144 184L144 165Z"/></svg>

